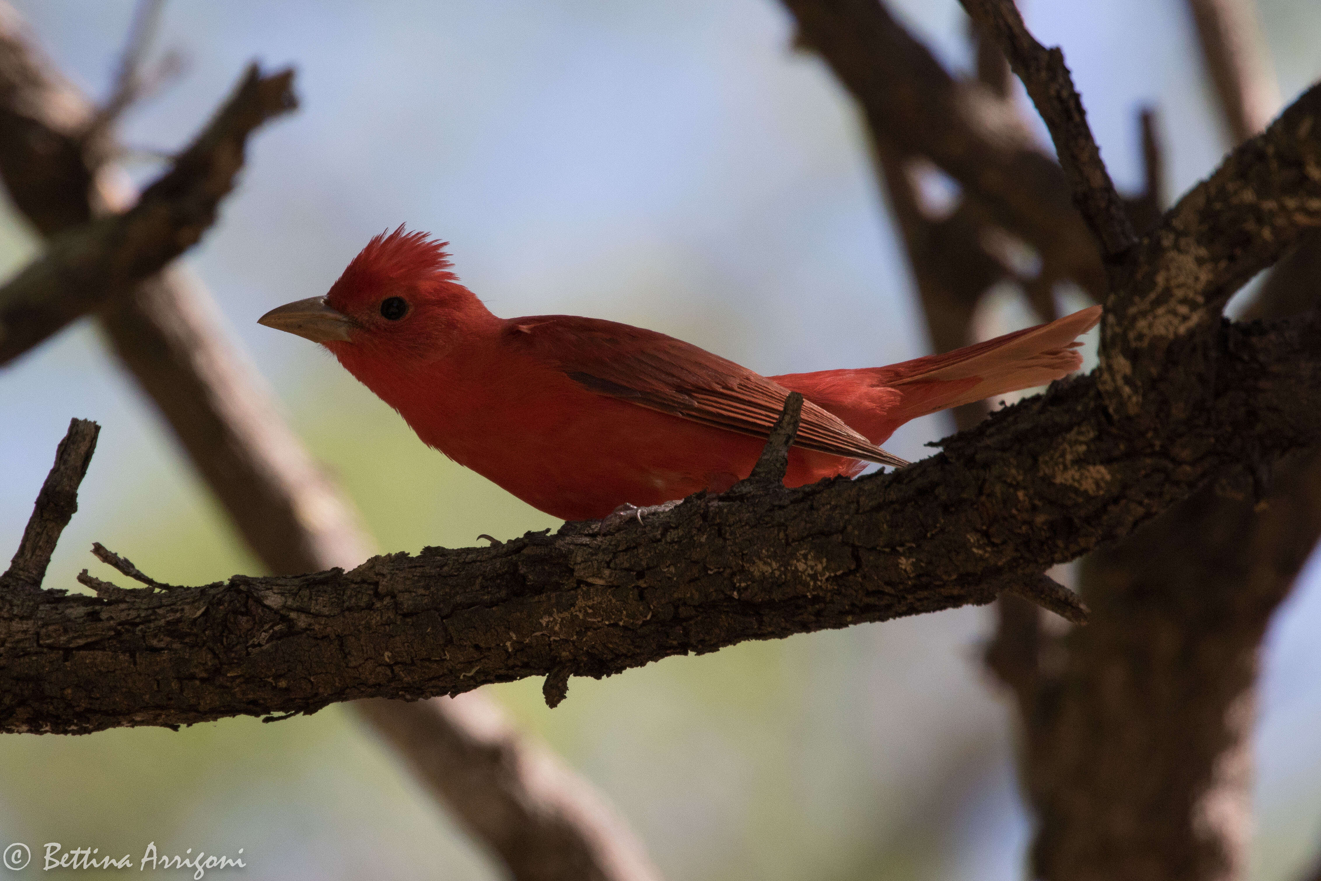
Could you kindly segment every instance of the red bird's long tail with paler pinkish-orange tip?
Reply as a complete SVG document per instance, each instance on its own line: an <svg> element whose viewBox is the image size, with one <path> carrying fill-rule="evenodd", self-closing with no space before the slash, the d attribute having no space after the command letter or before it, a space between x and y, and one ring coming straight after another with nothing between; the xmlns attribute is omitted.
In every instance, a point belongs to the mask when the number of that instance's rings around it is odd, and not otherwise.
<svg viewBox="0 0 1321 881"><path fill-rule="evenodd" d="M771 376L802 392L873 444L896 428L941 409L1044 386L1082 366L1078 337L1100 320L1100 306L1050 324L1007 333L942 355L914 358L888 367L823 370Z"/></svg>

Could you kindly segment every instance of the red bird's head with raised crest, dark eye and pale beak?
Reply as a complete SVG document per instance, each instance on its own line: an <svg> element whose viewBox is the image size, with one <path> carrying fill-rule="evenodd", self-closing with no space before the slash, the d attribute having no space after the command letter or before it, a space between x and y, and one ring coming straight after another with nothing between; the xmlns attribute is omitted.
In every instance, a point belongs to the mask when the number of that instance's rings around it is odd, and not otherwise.
<svg viewBox="0 0 1321 881"><path fill-rule="evenodd" d="M258 324L320 342L353 372L440 357L472 320L490 316L449 271L446 244L400 225L371 239L324 297L288 302Z"/></svg>

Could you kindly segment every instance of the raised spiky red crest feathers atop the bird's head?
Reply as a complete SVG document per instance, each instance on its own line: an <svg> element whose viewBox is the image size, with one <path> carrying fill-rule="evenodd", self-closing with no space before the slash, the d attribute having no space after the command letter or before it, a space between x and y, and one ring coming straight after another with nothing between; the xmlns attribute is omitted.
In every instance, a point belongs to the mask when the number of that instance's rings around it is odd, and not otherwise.
<svg viewBox="0 0 1321 881"><path fill-rule="evenodd" d="M326 299L337 308L351 306L361 297L376 297L383 288L408 285L429 293L433 285L457 281L445 247L431 234L406 232L404 225L371 239L349 263Z"/></svg>

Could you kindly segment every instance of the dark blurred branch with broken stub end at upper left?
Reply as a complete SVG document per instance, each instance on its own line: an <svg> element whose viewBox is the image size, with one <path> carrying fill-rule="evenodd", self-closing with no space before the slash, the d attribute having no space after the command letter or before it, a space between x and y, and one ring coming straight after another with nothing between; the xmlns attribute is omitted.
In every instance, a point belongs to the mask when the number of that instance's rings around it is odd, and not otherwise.
<svg viewBox="0 0 1321 881"><path fill-rule="evenodd" d="M293 71L248 67L234 95L132 209L71 229L0 288L0 365L79 316L128 296L186 251L234 188L248 135L296 106Z"/></svg>

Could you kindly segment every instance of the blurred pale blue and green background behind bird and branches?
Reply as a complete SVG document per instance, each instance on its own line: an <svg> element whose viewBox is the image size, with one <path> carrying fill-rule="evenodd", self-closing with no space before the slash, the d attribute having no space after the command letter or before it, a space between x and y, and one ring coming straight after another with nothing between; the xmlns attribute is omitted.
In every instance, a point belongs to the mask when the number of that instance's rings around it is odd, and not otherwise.
<svg viewBox="0 0 1321 881"><path fill-rule="evenodd" d="M18 5L103 98L132 4ZM966 65L954 0L900 11ZM1063 46L1122 186L1140 180L1147 103L1172 193L1214 168L1226 145L1181 0L1025 11ZM1321 13L1264 0L1262 15L1288 98L1321 71ZM188 73L124 137L173 151L248 59L297 67L301 110L258 135L188 265L383 548L472 544L555 522L424 449L333 359L256 317L322 293L373 234L408 222L449 239L460 276L502 316L639 324L768 374L923 354L853 110L787 42L768 0L176 0L159 45L182 52ZM0 268L36 248L7 210ZM999 321L1015 316L1009 304ZM86 324L0 372L0 413L5 559L70 416L103 425L48 585L96 572L92 540L170 581L258 568ZM919 420L890 448L917 458L950 429ZM1321 843L1317 582L1309 572L1264 659L1262 880L1292 878ZM967 609L575 680L553 712L538 683L493 691L609 793L671 880L993 881L1021 874L1028 827L1007 708L979 664L988 635L987 613ZM0 839L243 847L251 878L495 877L339 708L177 734L0 737Z"/></svg>

